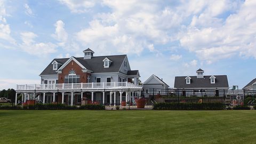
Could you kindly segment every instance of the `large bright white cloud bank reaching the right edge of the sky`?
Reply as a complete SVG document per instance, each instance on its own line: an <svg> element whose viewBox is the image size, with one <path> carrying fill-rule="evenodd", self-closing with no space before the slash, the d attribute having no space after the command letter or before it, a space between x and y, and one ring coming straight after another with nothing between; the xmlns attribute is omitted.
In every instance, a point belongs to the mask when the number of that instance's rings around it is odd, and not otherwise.
<svg viewBox="0 0 256 144"><path fill-rule="evenodd" d="M181 46L195 52L198 58L212 63L237 56L256 58L256 1L245 1L239 10L229 15L221 25L195 22L181 36ZM220 11L220 12L217 12ZM212 12L212 11L211 11ZM213 10L212 15L223 12ZM197 18L196 18L197 19Z"/></svg>

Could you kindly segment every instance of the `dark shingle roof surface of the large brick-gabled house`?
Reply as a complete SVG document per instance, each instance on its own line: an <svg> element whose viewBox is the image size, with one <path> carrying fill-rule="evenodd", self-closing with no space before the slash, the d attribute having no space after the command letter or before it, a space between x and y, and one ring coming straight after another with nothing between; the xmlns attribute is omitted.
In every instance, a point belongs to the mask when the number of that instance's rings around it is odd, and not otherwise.
<svg viewBox="0 0 256 144"><path fill-rule="evenodd" d="M125 57L126 55L108 55L108 56L92 57L91 59L85 59L85 60L84 58L75 58L75 57L74 58L79 63L81 63L85 68L92 70L93 73L109 73L109 72L118 72L122 66L122 63ZM111 59L111 61L113 61L109 68L103 67L103 59L105 58ZM58 61L63 65L68 59L69 58L54 59L54 60ZM40 75L57 74L56 71L53 70L52 62L44 69L44 71Z"/></svg>

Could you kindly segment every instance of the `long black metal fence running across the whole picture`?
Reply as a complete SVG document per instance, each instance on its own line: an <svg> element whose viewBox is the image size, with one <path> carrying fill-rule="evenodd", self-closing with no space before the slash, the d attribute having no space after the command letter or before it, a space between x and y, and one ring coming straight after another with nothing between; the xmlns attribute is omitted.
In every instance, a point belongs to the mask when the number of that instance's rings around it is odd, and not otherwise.
<svg viewBox="0 0 256 144"><path fill-rule="evenodd" d="M47 105L106 109L235 109L254 108L256 91L185 89L3 90L0 108ZM214 108L215 107L215 108Z"/></svg>

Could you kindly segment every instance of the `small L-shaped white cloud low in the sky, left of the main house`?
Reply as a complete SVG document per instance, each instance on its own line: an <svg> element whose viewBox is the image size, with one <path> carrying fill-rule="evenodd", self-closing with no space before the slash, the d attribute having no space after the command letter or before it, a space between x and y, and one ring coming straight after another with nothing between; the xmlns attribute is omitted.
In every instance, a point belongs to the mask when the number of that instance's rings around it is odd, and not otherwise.
<svg viewBox="0 0 256 144"><path fill-rule="evenodd" d="M36 34L32 32L23 32L21 33L22 44L20 47L23 51L37 55L38 57L44 57L47 54L55 53L57 51L57 45L53 43L36 43L35 38Z"/></svg>

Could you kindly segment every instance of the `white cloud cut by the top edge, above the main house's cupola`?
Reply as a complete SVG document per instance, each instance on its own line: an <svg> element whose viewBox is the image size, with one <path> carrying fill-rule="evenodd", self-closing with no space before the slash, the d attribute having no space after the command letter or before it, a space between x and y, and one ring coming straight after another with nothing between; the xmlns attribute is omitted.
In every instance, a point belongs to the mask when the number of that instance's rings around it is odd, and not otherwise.
<svg viewBox="0 0 256 144"><path fill-rule="evenodd" d="M87 12L91 7L95 5L95 1L80 1L80 0L59 0L61 4L65 4L73 13Z"/></svg>

